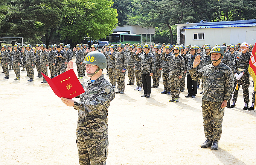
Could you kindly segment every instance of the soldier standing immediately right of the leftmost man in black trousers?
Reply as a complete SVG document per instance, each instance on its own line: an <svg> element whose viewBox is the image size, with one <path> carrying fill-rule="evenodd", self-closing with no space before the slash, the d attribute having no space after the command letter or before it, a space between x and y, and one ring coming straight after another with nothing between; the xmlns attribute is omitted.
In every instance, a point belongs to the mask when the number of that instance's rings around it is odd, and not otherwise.
<svg viewBox="0 0 256 165"><path fill-rule="evenodd" d="M158 88L162 71L162 68L160 67L160 63L162 62L160 45L154 46L154 51L152 52L152 54L155 57L155 74L152 75L152 88Z"/></svg>

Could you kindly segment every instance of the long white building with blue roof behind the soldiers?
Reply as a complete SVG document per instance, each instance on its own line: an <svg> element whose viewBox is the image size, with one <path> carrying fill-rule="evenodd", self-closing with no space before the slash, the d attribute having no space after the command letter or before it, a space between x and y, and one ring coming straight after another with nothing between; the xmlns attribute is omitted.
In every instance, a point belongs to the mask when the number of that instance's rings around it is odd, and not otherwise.
<svg viewBox="0 0 256 165"><path fill-rule="evenodd" d="M204 45L222 43L237 44L248 42L254 44L256 39L256 20L186 23L177 25L177 43Z"/></svg>

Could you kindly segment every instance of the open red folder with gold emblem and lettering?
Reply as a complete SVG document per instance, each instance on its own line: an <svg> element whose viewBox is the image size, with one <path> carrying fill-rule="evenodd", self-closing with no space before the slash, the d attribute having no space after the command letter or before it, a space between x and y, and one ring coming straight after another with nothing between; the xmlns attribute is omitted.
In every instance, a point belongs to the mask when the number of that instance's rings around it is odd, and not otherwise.
<svg viewBox="0 0 256 165"><path fill-rule="evenodd" d="M84 93L84 88L79 82L73 69L66 71L54 78L49 78L42 73L45 80L59 98L72 99Z"/></svg>

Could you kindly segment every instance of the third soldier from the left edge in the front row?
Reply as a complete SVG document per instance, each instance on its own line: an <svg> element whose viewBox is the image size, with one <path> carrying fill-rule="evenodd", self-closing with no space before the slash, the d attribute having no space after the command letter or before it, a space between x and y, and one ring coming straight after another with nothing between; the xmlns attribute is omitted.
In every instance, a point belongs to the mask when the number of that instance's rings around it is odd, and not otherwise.
<svg viewBox="0 0 256 165"><path fill-rule="evenodd" d="M27 81L34 81L34 61L35 61L35 54L32 50L32 45L28 44L25 46L26 48L26 67L27 67L27 75L29 76L29 80Z"/></svg>

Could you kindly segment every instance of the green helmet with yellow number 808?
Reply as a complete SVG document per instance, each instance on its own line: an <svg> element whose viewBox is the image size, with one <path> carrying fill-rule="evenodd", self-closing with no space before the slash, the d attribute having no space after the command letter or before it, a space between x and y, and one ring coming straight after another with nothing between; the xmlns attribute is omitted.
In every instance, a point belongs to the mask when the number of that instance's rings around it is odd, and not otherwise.
<svg viewBox="0 0 256 165"><path fill-rule="evenodd" d="M97 65L100 69L107 68L107 59L102 52L91 51L84 58L84 64Z"/></svg>

